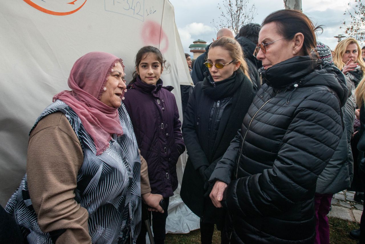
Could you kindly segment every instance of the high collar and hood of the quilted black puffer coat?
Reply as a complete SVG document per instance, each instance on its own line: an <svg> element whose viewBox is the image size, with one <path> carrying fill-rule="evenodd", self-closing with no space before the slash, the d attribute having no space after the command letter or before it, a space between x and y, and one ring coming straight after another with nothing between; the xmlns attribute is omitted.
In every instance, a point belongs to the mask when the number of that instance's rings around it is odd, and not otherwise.
<svg viewBox="0 0 365 244"><path fill-rule="evenodd" d="M343 73L328 62L318 63L312 56L295 56L264 70L259 70L262 79L274 88L327 86L345 105L349 91Z"/></svg>

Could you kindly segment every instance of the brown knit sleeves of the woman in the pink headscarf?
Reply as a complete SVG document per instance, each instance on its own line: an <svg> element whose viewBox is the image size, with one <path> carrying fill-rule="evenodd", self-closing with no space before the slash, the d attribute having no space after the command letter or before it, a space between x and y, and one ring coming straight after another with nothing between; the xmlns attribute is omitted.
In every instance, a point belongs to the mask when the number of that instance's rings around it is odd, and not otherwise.
<svg viewBox="0 0 365 244"><path fill-rule="evenodd" d="M62 112L44 117L30 134L27 179L32 206L43 232L66 229L58 243L91 243L88 212L75 200L83 162L80 141ZM141 194L151 191L141 156Z"/></svg>

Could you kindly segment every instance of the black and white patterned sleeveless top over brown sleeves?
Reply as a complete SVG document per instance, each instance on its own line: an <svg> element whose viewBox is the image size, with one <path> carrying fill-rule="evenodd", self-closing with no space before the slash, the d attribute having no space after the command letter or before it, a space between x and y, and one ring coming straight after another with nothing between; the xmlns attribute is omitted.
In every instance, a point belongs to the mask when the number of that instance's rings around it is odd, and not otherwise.
<svg viewBox="0 0 365 244"><path fill-rule="evenodd" d="M96 155L93 139L80 118L60 100L48 106L35 125L46 115L57 111L64 113L69 120L84 153L74 193L76 202L89 213L92 243L125 243L130 235L135 243L141 222L141 161L126 108L122 103L118 109L123 135L113 135L109 148L101 155ZM37 214L29 197L27 174L5 210L13 216L29 243L53 243L49 233L39 229Z"/></svg>

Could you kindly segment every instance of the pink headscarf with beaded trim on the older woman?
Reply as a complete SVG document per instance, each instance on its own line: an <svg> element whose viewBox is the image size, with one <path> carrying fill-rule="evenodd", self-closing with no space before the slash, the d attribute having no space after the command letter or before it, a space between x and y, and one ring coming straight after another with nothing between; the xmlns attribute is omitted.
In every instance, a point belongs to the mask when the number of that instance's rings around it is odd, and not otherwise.
<svg viewBox="0 0 365 244"><path fill-rule="evenodd" d="M93 138L96 155L109 147L111 134L123 135L118 109L100 102L111 69L122 59L110 53L91 52L78 59L70 72L68 86L71 91L61 91L53 97L69 105L80 117L82 125ZM124 90L123 90L124 94Z"/></svg>

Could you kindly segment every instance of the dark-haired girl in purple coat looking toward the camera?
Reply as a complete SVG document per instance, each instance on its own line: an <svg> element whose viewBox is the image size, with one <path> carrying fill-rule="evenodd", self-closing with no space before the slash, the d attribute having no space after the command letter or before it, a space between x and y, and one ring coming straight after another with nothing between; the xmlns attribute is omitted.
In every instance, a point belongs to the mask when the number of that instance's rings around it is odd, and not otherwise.
<svg viewBox="0 0 365 244"><path fill-rule="evenodd" d="M141 155L147 161L151 194L161 194L166 202L164 213L152 212L155 244L165 240L169 197L174 195L178 184L176 163L185 151L176 100L170 92L173 87L162 86L160 79L165 62L157 48L145 46L139 49L135 59L136 71L123 100ZM146 243L146 233L142 224L137 244Z"/></svg>

